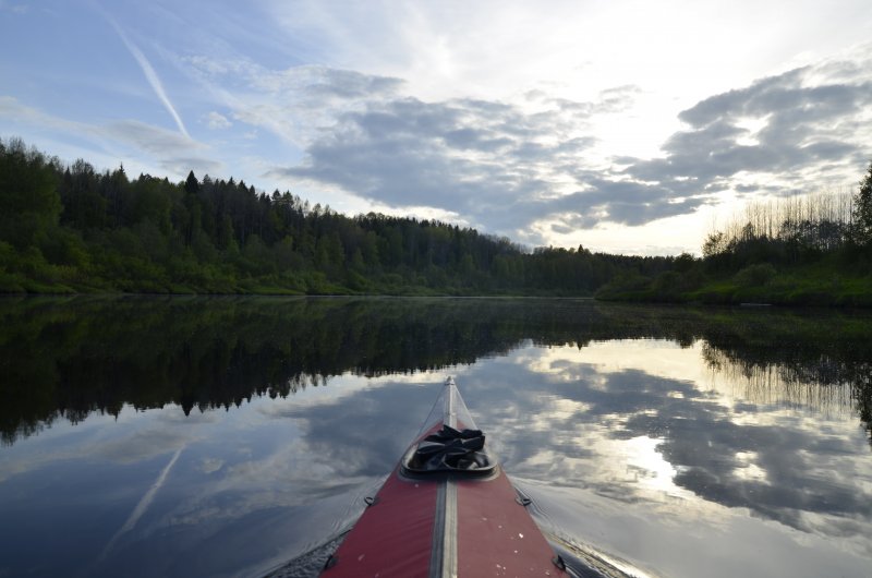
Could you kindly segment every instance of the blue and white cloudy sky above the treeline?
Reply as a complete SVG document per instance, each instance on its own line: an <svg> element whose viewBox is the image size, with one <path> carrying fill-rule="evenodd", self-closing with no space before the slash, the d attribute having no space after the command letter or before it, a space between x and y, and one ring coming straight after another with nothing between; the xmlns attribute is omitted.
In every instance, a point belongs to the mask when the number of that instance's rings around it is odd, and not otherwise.
<svg viewBox="0 0 872 578"><path fill-rule="evenodd" d="M872 158L869 0L0 0L0 139L348 215L699 253Z"/></svg>

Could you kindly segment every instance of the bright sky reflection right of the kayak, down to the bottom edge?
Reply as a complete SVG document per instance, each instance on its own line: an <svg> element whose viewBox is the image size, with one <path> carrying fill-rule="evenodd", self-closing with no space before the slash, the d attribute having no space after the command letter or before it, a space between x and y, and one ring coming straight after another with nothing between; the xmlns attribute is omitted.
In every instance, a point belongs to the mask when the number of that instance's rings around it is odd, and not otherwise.
<svg viewBox="0 0 872 578"><path fill-rule="evenodd" d="M865 576L872 460L850 406L760 404L703 346L529 348L473 369L467 400L553 533L667 576ZM495 383L512 397L487 409Z"/></svg>

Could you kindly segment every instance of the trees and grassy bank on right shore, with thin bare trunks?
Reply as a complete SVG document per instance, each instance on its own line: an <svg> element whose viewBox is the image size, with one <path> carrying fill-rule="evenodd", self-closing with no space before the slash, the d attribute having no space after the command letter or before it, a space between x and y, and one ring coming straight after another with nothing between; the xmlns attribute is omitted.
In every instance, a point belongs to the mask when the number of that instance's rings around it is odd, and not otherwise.
<svg viewBox="0 0 872 578"><path fill-rule="evenodd" d="M654 277L598 292L632 301L872 306L872 164L856 192L753 203Z"/></svg>

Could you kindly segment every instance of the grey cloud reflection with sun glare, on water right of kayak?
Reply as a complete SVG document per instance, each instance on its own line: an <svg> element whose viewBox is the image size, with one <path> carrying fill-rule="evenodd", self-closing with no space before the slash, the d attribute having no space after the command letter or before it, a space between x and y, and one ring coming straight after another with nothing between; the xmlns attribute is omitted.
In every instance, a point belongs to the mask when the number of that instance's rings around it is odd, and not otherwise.
<svg viewBox="0 0 872 578"><path fill-rule="evenodd" d="M665 507L690 527L715 505L747 508L872 556L872 466L850 412L724 394L741 383L713 389L702 345L522 350L474 369L464 394L480 425L509 446L507 469L525 480L658 504L658 515ZM691 378L668 376L681 366ZM519 409L492 410L487 399Z"/></svg>

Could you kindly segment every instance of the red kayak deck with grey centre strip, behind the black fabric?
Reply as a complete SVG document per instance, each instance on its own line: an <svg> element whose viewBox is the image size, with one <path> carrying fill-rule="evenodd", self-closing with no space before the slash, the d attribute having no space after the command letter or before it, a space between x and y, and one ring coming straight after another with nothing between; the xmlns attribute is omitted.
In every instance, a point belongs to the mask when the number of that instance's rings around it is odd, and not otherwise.
<svg viewBox="0 0 872 578"><path fill-rule="evenodd" d="M558 564L498 466L482 478L423 479L398 466L322 576L566 576Z"/></svg>

